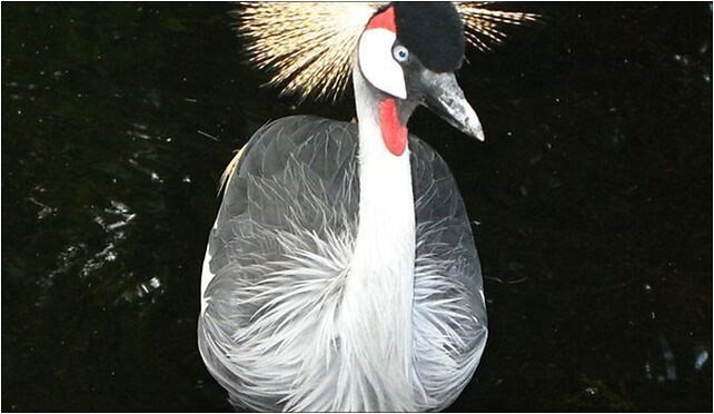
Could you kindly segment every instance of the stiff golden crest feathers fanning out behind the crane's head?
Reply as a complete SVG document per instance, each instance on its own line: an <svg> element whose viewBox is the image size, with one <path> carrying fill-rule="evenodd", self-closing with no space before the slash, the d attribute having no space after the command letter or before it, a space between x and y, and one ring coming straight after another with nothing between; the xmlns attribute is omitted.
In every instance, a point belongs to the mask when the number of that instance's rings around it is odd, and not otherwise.
<svg viewBox="0 0 714 414"><path fill-rule="evenodd" d="M349 83L361 32L386 2L245 2L238 30L249 40L248 56L271 73L280 93L335 100ZM500 43L503 24L537 16L492 10L484 2L457 2L466 40L479 50Z"/></svg>

